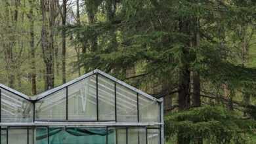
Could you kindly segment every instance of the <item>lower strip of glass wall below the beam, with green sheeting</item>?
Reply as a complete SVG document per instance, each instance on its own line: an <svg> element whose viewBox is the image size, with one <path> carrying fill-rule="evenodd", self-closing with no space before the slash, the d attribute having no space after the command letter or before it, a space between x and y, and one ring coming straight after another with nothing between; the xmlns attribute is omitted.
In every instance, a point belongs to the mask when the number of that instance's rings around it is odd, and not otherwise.
<svg viewBox="0 0 256 144"><path fill-rule="evenodd" d="M160 130L145 127L9 127L1 129L1 144L160 144Z"/></svg>

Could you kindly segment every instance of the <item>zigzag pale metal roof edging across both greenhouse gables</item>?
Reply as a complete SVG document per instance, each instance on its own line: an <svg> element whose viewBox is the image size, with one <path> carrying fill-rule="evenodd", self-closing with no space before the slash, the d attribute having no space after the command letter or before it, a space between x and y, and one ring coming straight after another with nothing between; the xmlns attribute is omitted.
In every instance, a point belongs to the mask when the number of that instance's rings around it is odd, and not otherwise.
<svg viewBox="0 0 256 144"><path fill-rule="evenodd" d="M95 75L96 73L103 75L104 77L106 77L118 84L121 84L122 86L125 86L126 88L129 88L130 90L133 90L134 92L137 92L138 94L141 94L142 96L145 96L146 98L152 99L154 101L161 101L160 99L154 98L153 96L150 96L149 94L146 94L145 92L142 92L141 90L138 90L137 88L135 88L123 81L120 81L119 79L116 79L115 77L112 77L111 75L108 75L107 73L104 73L103 71L100 71L99 69L95 69L94 71L91 71L81 77L78 77L77 79L67 82L66 84L62 84L61 86L58 86L51 90L47 90L47 91L45 91L41 94L37 94L36 96L33 96L33 97L27 96L26 94L22 94L21 92L18 92L12 88L9 88L8 86L5 86L3 84L0 84L0 88L3 88L13 94L16 94L17 96L20 96L21 98L27 99L28 101L32 101L32 100L42 99L50 94L53 94L54 92L57 92L58 90L62 90L63 88L66 88L67 86L74 84L75 82L82 81L83 79L86 79L87 77L90 77L91 75Z"/></svg>

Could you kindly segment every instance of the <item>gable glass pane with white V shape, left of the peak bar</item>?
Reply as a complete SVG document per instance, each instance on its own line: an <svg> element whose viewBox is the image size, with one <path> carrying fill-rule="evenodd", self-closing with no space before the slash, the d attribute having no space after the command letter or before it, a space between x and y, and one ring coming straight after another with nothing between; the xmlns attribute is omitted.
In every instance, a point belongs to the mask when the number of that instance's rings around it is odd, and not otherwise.
<svg viewBox="0 0 256 144"><path fill-rule="evenodd" d="M96 76L68 86L68 120L96 120Z"/></svg>

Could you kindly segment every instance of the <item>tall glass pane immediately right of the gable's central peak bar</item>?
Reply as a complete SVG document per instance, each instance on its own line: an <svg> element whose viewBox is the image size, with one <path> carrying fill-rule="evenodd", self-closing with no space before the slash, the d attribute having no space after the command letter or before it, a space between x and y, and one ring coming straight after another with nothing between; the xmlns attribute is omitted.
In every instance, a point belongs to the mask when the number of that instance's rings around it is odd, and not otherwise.
<svg viewBox="0 0 256 144"><path fill-rule="evenodd" d="M98 118L115 120L115 83L98 75Z"/></svg>

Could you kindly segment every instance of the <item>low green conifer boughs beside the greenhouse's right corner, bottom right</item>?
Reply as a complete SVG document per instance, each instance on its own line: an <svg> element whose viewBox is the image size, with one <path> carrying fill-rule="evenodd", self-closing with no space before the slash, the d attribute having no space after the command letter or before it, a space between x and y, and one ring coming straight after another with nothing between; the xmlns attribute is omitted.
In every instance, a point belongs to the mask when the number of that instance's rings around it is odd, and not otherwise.
<svg viewBox="0 0 256 144"><path fill-rule="evenodd" d="M196 143L198 135L209 143L247 143L247 135L253 134L255 128L255 120L242 119L224 107L204 106L165 117L167 139L182 132L182 137L190 138L192 143Z"/></svg>

